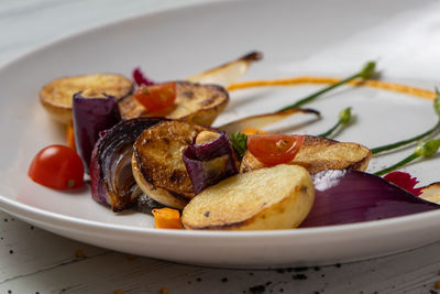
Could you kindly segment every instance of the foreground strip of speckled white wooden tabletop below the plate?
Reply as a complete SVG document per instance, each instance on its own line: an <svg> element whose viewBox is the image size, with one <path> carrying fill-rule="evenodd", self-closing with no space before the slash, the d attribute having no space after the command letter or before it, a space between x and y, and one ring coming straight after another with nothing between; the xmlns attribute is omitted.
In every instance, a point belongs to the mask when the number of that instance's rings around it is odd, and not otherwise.
<svg viewBox="0 0 440 294"><path fill-rule="evenodd" d="M440 243L350 264L229 270L118 253L0 217L0 293L435 293L440 280Z"/></svg>

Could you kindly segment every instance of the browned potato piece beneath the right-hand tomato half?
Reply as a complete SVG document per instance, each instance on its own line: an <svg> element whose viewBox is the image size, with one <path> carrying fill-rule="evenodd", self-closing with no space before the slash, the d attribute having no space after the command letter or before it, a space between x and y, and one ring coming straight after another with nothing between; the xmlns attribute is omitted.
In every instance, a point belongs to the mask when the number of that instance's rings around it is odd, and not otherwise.
<svg viewBox="0 0 440 294"><path fill-rule="evenodd" d="M298 154L289 164L304 166L310 174L326 170L365 171L371 156L371 151L361 144L306 135ZM240 165L240 172L245 173L264 166L264 163L246 151Z"/></svg>

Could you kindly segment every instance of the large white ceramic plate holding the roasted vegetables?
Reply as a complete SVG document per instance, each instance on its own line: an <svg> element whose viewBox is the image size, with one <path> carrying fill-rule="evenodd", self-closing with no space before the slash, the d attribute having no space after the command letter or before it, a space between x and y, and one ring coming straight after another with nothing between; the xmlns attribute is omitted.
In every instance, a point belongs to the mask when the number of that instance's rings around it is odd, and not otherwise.
<svg viewBox="0 0 440 294"><path fill-rule="evenodd" d="M220 266L311 265L378 257L440 240L440 211L315 229L210 232L153 229L150 216L114 215L88 190L58 193L26 177L34 154L63 143L38 104L45 83L65 75L135 66L156 80L183 78L253 50L264 59L243 79L346 76L376 58L383 78L433 89L440 76L436 1L222 1L107 25L38 50L0 69L0 208L73 239L164 260ZM232 92L218 123L276 110L315 89L305 85ZM431 102L377 89L344 87L309 107L323 119L299 123L321 132L352 106L356 122L338 139L367 146L419 133L436 123ZM306 120L307 121L307 120ZM285 126L284 126L285 127ZM278 126L278 128L284 128ZM373 160L370 171L411 152ZM440 179L439 156L407 166L421 184Z"/></svg>

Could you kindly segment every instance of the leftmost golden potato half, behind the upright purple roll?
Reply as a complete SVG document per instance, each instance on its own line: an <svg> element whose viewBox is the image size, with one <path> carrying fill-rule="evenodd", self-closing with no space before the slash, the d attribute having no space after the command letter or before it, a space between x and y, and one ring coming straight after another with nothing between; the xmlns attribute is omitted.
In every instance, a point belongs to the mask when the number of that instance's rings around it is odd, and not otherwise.
<svg viewBox="0 0 440 294"><path fill-rule="evenodd" d="M40 101L53 119L67 124L72 121L72 97L75 92L87 89L121 99L133 91L133 83L117 74L62 77L41 89Z"/></svg>

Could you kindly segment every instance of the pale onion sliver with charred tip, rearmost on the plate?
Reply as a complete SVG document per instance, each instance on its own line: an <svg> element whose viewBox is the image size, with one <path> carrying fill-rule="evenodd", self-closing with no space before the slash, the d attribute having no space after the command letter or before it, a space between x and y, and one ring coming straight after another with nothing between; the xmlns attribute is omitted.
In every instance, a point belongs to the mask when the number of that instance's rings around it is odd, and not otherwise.
<svg viewBox="0 0 440 294"><path fill-rule="evenodd" d="M244 75L251 64L263 58L261 52L251 52L235 61L220 65L204 73L187 77L186 80L201 84L216 84L228 87Z"/></svg>

